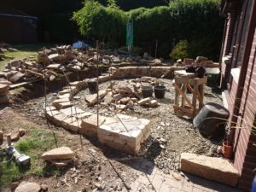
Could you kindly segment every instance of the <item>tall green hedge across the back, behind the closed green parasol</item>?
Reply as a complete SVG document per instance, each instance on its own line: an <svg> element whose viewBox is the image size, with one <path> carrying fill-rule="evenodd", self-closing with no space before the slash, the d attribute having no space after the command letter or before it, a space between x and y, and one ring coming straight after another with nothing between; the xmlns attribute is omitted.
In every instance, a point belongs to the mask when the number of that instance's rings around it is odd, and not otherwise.
<svg viewBox="0 0 256 192"><path fill-rule="evenodd" d="M125 40L126 20L133 20L135 45L158 39L158 53L166 57L173 44L185 39L194 44L193 55L211 59L218 58L224 25L218 15L218 0L176 0L169 6L128 12L87 0L84 8L74 13L73 20L82 34L121 44Z"/></svg>

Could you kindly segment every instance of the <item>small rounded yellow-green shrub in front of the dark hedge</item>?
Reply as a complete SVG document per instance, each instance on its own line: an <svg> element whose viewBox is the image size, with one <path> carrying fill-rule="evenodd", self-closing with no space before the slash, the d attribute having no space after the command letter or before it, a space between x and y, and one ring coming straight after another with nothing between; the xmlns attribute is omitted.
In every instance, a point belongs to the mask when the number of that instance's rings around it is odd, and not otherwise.
<svg viewBox="0 0 256 192"><path fill-rule="evenodd" d="M184 59L189 57L188 54L189 42L187 40L181 40L178 42L175 47L172 49L172 53L170 54L173 61L178 59Z"/></svg>

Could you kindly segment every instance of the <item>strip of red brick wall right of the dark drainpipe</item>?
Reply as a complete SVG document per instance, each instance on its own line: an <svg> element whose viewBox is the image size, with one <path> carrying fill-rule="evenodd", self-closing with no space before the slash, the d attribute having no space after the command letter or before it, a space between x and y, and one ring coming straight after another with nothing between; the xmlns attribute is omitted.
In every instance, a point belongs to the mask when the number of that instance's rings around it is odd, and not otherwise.
<svg viewBox="0 0 256 192"><path fill-rule="evenodd" d="M233 88L230 91L230 100L234 101ZM256 168L256 136L251 134L250 129L254 124L256 113L256 30L250 53L250 60L247 67L247 76L245 86L241 98L241 119L238 123L242 123L243 130L236 129L234 150L235 160L234 166L241 173L239 187L250 189L253 181L253 169ZM233 103L233 102L232 102Z"/></svg>

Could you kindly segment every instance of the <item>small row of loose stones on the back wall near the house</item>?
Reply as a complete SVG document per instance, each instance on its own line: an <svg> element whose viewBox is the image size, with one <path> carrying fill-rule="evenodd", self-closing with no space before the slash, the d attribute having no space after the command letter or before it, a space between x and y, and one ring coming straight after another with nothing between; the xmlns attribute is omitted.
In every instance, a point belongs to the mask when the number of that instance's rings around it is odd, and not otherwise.
<svg viewBox="0 0 256 192"><path fill-rule="evenodd" d="M187 66L187 65L194 65L194 66L201 66L201 67L219 67L218 63L214 63L212 60L208 60L205 56L197 56L195 60L191 58L184 58L177 60L177 66Z"/></svg>

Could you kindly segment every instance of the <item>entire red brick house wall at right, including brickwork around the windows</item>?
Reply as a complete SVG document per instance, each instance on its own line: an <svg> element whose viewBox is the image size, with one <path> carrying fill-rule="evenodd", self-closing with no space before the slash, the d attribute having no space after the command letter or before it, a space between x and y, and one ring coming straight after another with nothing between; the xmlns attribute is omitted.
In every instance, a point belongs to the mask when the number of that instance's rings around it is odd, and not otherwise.
<svg viewBox="0 0 256 192"><path fill-rule="evenodd" d="M247 8L249 7L247 5L249 1L253 2L252 15L254 15L254 17L250 16L250 20L248 21L249 26L247 27L248 31L242 32L244 29L243 23L246 20L246 14L244 13L246 13ZM233 126L236 126L233 140L233 162L234 166L241 174L238 187L241 189L250 189L253 181L253 169L256 168L256 146L254 145L254 143L256 143L256 136L253 135L250 130L252 125L256 125L256 1L245 0L237 2L241 3L239 9L237 9L240 12L236 15L232 15L232 19L230 18L230 15L229 17L226 17L226 20L230 20L227 23L230 23L231 20L233 20L233 24L235 24L234 20L236 18L236 20L238 20L238 25L237 28L234 26L225 27L226 32L222 47L223 57L229 54L228 49L232 49L232 38L233 44L236 46L231 52L232 64L227 66L224 61L220 62L222 75L221 85L222 88L226 89L224 92L230 111L229 125L232 125L231 122L234 121L234 116L238 117L235 118L236 122L233 124ZM232 10L232 13L234 13L233 11L234 10ZM233 36L231 34L233 34ZM246 39L245 44L240 44L241 38ZM229 44L230 48L228 48ZM240 46L243 47L242 51L239 49ZM239 54L241 54L241 63L237 60ZM239 65L241 65L241 67L238 67ZM238 104L239 110L236 110L235 107L237 101L240 101L240 104ZM240 126L245 129L239 129Z"/></svg>

